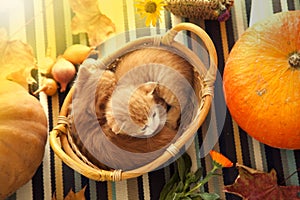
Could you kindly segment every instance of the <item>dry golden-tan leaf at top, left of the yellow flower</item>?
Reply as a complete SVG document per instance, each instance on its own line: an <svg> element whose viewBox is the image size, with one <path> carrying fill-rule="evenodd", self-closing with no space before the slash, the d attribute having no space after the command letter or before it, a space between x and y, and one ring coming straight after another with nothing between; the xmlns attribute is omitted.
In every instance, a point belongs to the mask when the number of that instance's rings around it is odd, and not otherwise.
<svg viewBox="0 0 300 200"><path fill-rule="evenodd" d="M70 0L70 5L75 13L72 33L87 33L91 46L97 46L116 31L110 18L101 13L98 0Z"/></svg>

